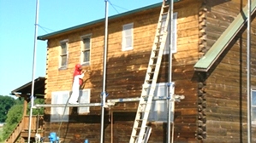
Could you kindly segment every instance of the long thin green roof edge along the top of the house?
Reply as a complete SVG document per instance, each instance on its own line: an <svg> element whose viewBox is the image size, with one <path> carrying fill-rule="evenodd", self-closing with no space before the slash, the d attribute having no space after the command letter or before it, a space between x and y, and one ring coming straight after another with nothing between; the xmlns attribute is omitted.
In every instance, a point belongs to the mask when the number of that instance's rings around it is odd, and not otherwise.
<svg viewBox="0 0 256 143"><path fill-rule="evenodd" d="M180 0L174 0L175 3L179 2L179 1ZM116 15L110 16L109 20L116 19L116 18L125 16L125 15L128 15L128 14L134 14L136 12L140 12L140 11L143 11L143 10L146 10L146 9L157 8L157 7L160 7L161 5L162 5L162 3L156 3L156 4L152 4L152 5L140 8L140 9L134 9L134 10L122 13L122 14L116 14ZM85 23L85 24L82 24L82 25L79 25L79 26L73 26L73 27L70 27L70 28L67 28L67 29L63 29L61 31L55 31L55 32L52 32L52 33L49 33L49 34L46 34L46 35L39 36L38 39L39 40L47 40L49 37L55 36L57 34L61 34L61 33L67 32L67 31L73 31L75 29L79 29L79 28L85 27L85 26L92 26L93 24L96 24L96 23L99 23L99 22L104 22L104 20L105 20L104 18L99 19L99 20L93 20L91 22L88 22L88 23Z"/></svg>

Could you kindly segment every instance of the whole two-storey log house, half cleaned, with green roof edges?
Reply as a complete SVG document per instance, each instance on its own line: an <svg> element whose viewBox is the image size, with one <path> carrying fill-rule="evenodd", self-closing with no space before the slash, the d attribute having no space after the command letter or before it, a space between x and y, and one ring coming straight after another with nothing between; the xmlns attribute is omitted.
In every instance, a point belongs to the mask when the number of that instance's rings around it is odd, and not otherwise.
<svg viewBox="0 0 256 143"><path fill-rule="evenodd" d="M162 3L110 16L108 21L107 100L140 97L151 57ZM171 52L164 49L154 96L165 96L168 77L175 94L174 142L247 142L247 1L180 0L173 9ZM251 99L255 133L255 17L252 0ZM101 102L104 19L38 37L47 40L45 104L67 103L74 66L86 76L80 103ZM166 43L169 45L169 43ZM168 70L172 55L171 74ZM130 140L138 101L104 111L104 142ZM45 107L44 135L57 132L64 142L100 140L101 106ZM64 113L63 113L64 112ZM148 142L167 142L166 101L153 101ZM256 141L252 135L252 140Z"/></svg>

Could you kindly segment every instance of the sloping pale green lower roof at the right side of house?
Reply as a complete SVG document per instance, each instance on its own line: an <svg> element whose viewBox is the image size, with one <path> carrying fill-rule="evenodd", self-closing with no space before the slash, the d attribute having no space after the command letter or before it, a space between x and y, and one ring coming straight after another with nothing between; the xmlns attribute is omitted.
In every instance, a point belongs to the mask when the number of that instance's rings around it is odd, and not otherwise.
<svg viewBox="0 0 256 143"><path fill-rule="evenodd" d="M252 1L251 4L252 14L255 12L256 0ZM229 43L234 39L235 35L241 31L242 26L247 22L247 9L246 6L242 9L241 13L238 14L235 20L229 25L229 27L223 32L223 34L217 39L209 49L209 51L203 56L194 67L195 71L207 72L211 66L215 63L218 57L228 47Z"/></svg>

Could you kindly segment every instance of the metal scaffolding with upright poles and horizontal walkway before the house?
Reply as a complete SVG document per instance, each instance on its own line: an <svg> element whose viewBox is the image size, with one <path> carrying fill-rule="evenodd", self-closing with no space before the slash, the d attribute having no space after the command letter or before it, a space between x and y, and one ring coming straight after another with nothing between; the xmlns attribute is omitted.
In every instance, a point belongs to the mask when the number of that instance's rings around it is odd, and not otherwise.
<svg viewBox="0 0 256 143"><path fill-rule="evenodd" d="M169 69L169 79L168 79L168 82L170 83L169 86L168 86L168 91L169 91L169 94L167 96L158 96L158 97L150 97L147 96L147 97L136 97L136 98L120 98L120 99L111 99L111 100L106 100L106 96L107 96L107 93L105 91L105 78L106 78L106 57L107 57L107 37L108 37L108 0L104 0L105 2L105 35L104 35L104 63L103 63L103 69L104 69L104 77L103 77L103 90L102 90L102 102L101 103L86 103L86 104L74 104L74 105L70 105L70 104L44 104L44 105L34 105L34 97L33 97L33 86L34 86L34 83L32 83L32 94L31 94L31 108L30 108L30 117L32 117L32 112L33 112L33 109L35 108L40 108L40 107L89 107L89 106L101 106L102 107L102 113L101 113L101 136L100 136L100 142L103 143L103 139L104 139L104 108L106 107L110 107L110 106L116 106L117 103L121 103L121 102L136 102L136 101L147 101L147 100L166 100L168 102L168 126L170 125L170 122L173 123L173 117L172 117L172 121L170 119L170 116L171 116L171 113L170 113L170 110L174 110L174 102L175 101L180 101L180 100L183 100L185 98L184 95L178 95L178 94L174 94L173 91L171 91L171 86L173 86L173 83L171 83L171 62L172 62L172 56L171 56L171 48L169 47L169 50L170 50L170 69ZM163 0L163 3L168 3L169 6L170 6L170 10L168 11L168 14L170 16L170 18L168 17L167 20L170 20L168 21L167 23L171 24L171 20L173 20L173 3L174 1L173 0ZM163 7L163 6L162 6ZM34 55L33 55L33 77L34 77L34 71L35 71L35 57L36 57L36 39L37 39L37 27L38 27L38 14L39 14L39 0L37 0L37 9L36 9L36 24L35 24L35 42L34 42ZM158 21L159 22L159 21ZM170 26L170 31L171 30L171 27ZM170 32L171 33L171 32ZM172 34L170 34L170 39L172 39ZM166 38L166 37L165 37ZM170 40L169 39L169 40ZM165 41L165 40L164 40ZM165 43L165 42L164 42ZM171 40L170 40L170 43L171 43ZM171 44L170 44L171 45ZM154 51L155 52L155 51ZM34 81L34 80L33 80ZM171 85L171 86L170 86ZM154 90L154 89L153 89ZM151 91L153 93L153 91ZM151 104L151 102L150 102ZM139 107L138 107L139 108ZM150 109L150 106L149 106L149 109ZM173 112L173 111L172 111ZM172 113L174 114L174 113ZM29 121L29 133L28 133L28 142L30 142L30 132L31 132L31 119ZM172 128L174 128L174 124L172 124ZM168 127L168 134L167 134L167 140L168 140L168 143L170 143L170 126ZM148 131L148 130L147 130ZM147 132L146 131L146 132ZM151 129L148 131L150 132ZM172 131L173 133L174 131ZM148 140L149 138L149 134L146 134L146 138ZM136 140L134 140L136 142ZM133 142L134 142L133 141ZM137 140L138 141L138 140ZM173 141L173 140L172 140Z"/></svg>

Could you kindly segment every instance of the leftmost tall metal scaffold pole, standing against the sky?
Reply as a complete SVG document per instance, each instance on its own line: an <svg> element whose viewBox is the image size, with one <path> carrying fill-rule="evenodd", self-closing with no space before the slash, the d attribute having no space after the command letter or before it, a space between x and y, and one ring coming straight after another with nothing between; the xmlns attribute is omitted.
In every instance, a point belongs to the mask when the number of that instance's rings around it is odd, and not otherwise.
<svg viewBox="0 0 256 143"><path fill-rule="evenodd" d="M38 20L39 20L39 0L36 1L36 17L35 17L35 30L34 30L34 44L33 44L33 72L32 72L32 87L31 87L31 106L29 112L29 124L28 124L28 137L27 142L30 143L31 136L31 122L33 114L33 100L34 100L34 75L36 68L36 53L37 53L37 37L38 37Z"/></svg>

